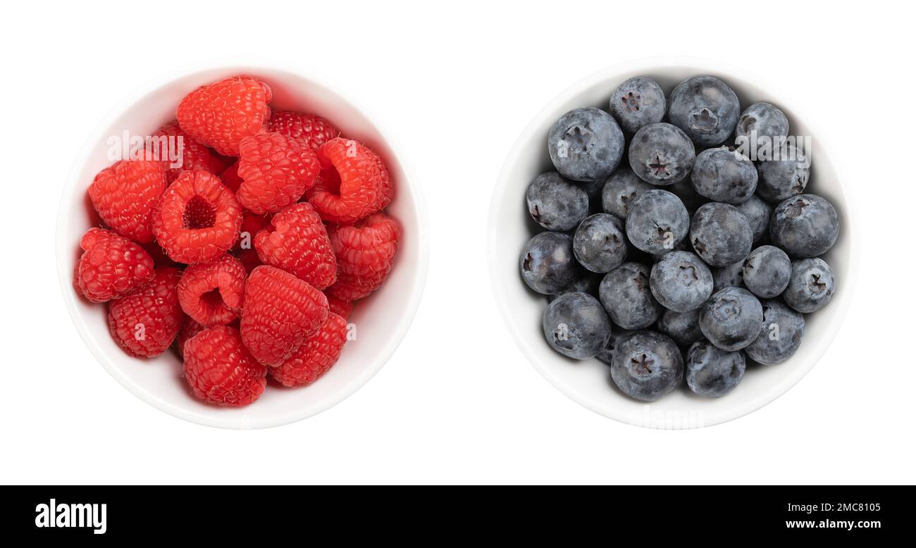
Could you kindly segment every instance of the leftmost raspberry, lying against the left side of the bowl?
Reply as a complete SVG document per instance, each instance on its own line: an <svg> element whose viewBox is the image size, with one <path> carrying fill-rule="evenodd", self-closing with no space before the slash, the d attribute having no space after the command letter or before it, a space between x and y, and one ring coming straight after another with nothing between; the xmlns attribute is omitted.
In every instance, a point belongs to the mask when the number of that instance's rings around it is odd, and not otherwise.
<svg viewBox="0 0 916 548"><path fill-rule="evenodd" d="M90 228L82 235L83 253L77 265L76 283L93 302L124 296L153 279L153 259L143 247L103 228Z"/></svg>

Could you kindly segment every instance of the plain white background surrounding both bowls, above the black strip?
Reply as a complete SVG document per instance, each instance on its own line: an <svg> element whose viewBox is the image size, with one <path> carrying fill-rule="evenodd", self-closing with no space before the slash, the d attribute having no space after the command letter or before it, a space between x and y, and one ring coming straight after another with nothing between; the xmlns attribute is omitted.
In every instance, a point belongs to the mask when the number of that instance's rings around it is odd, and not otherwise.
<svg viewBox="0 0 916 548"><path fill-rule="evenodd" d="M901 3L7 4L0 22L0 483L913 483L914 14ZM23 7L23 5L29 5ZM383 116L420 176L432 254L387 366L330 411L252 432L172 418L82 344L53 253L60 190L114 104L176 66L252 54ZM623 60L724 60L791 88L858 208L856 299L817 367L698 431L605 419L540 378L491 298L485 219L521 129ZM77 235L74 235L74 241Z"/></svg>

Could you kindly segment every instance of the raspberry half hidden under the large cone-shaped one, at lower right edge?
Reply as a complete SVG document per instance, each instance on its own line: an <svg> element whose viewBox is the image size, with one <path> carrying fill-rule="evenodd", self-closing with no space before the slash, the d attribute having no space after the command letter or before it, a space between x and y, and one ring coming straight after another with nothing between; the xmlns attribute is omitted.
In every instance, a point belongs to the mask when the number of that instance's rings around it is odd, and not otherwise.
<svg viewBox="0 0 916 548"><path fill-rule="evenodd" d="M308 385L324 375L346 344L346 320L329 313L317 332L305 339L279 367L270 367L270 376L283 386Z"/></svg>

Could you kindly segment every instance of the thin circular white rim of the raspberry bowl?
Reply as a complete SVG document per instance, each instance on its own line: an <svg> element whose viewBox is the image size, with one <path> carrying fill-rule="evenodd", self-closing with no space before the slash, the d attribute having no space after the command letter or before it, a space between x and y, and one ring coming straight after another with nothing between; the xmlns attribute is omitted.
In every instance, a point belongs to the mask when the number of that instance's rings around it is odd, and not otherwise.
<svg viewBox="0 0 916 548"><path fill-rule="evenodd" d="M398 319L398 322L391 325L390 334L387 336L387 344L376 354L376 358L373 360L373 363L370 367L365 367L365 369L362 370L358 375L350 379L342 389L337 390L337 392L333 394L333 397L325 398L322 400L321 405L312 405L307 411L293 411L282 414L278 413L268 418L246 418L239 422L218 419L216 417L217 413L208 412L209 410L204 412L187 411L169 403L166 400L162 400L154 391L148 390L128 378L125 373L121 371L121 368L114 363L112 356L108 356L108 354L95 343L93 334L90 333L86 322L77 309L78 297L72 288L73 273L71 269L68 268L66 259L69 255L71 255L73 251L72 237L71 234L67 233L66 223L66 220L70 217L71 212L69 210L65 210L65 208L68 206L71 195L74 192L78 192L80 187L79 179L80 173L82 171L82 166L85 165L85 163L88 161L89 155L91 154L95 145L101 138L105 137L105 131L109 126L114 124L115 120L117 120L121 115L124 115L130 108L133 107L134 104L138 103L149 93L154 93L158 89L169 85L170 82L178 81L181 78L192 76L199 72L234 71L241 74L247 71L259 70L287 73L289 75L293 75L311 82L315 86L322 87L325 92L333 94L344 104L348 104L355 111L364 115L365 118L372 123L378 132L378 136L383 140L383 142L386 143L387 148L389 148L391 152L391 155L395 157L398 165L400 166L400 169L404 172L404 181L399 181L398 184L401 188L406 189L412 197L412 214L417 219L417 234L414 236L417 239L417 257L416 265L414 267L416 275L414 283L411 286L411 290L409 291L409 298L407 299L406 308ZM289 63L272 59L245 57L233 57L231 59L224 58L186 63L173 70L158 73L158 75L148 79L147 81L141 82L141 84L136 86L133 91L127 93L123 99L118 101L114 107L110 109L93 128L89 136L86 137L82 148L80 148L76 159L74 159L71 165L71 170L67 175L66 182L64 183L60 193L57 225L55 227L55 254L58 267L60 290L63 295L63 300L66 304L67 311L70 314L71 321L76 326L77 331L82 337L83 343L89 348L90 352L95 357L95 360L100 365L102 365L102 367L104 367L109 375L111 375L115 380L118 381L119 384L125 387L125 389L128 389L140 400L143 400L147 402L147 404L158 409L158 411L163 411L173 417L182 419L187 422L229 430L273 428L282 426L284 424L290 424L292 422L299 422L303 419L317 415L322 411L327 411L334 405L337 405L341 401L351 396L356 390L362 388L365 383L369 381L369 379L373 378L376 373L387 364L388 359L394 355L395 351L398 349L398 346L407 334L410 324L413 323L413 320L417 314L417 310L420 307L420 301L423 295L423 291L426 287L426 279L429 270L430 225L426 209L426 201L424 199L417 174L405 156L403 152L404 148L401 146L397 135L392 132L390 127L385 124L384 118L379 116L375 110L366 107L365 104L363 104L361 101L355 100L353 96L342 92L341 89L342 86L336 84L335 82L331 82L331 79L327 78L319 71L310 68L304 63Z"/></svg>

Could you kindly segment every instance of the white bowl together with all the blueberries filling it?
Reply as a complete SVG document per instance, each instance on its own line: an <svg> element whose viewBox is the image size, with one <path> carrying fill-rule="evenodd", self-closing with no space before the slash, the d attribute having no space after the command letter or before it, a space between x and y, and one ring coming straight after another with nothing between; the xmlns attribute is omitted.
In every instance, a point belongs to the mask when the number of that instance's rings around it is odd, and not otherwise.
<svg viewBox="0 0 916 548"><path fill-rule="evenodd" d="M823 356L856 223L786 92L709 60L612 67L551 101L491 205L500 312L531 364L621 422L695 428L778 398Z"/></svg>

